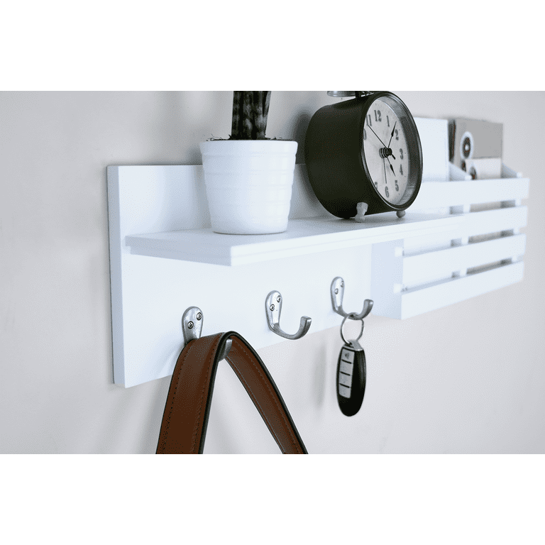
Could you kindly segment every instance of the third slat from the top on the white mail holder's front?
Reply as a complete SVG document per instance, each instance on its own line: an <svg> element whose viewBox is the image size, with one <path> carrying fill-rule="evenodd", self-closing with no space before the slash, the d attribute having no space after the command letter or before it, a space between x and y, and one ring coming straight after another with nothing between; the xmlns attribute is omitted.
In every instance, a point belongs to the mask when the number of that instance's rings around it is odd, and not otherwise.
<svg viewBox="0 0 545 545"><path fill-rule="evenodd" d="M417 285L422 277L448 277L452 272L524 255L526 236L515 235L492 241L453 246L446 250L403 258L403 284Z"/></svg>

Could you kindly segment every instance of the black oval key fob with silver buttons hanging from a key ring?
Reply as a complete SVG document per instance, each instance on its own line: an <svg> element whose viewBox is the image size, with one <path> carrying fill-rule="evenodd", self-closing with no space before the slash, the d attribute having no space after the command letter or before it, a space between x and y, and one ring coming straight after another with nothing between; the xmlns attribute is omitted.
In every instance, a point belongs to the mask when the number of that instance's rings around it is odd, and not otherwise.
<svg viewBox="0 0 545 545"><path fill-rule="evenodd" d="M341 348L337 364L337 401L347 417L360 410L365 380L365 352L358 341L350 341Z"/></svg>

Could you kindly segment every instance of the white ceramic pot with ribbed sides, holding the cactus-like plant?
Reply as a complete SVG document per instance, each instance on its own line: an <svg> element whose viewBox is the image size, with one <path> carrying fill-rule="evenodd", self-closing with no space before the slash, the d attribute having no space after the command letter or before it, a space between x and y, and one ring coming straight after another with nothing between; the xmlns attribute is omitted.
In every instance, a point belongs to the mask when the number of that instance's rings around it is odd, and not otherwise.
<svg viewBox="0 0 545 545"><path fill-rule="evenodd" d="M287 229L297 142L216 140L200 148L212 231L257 235Z"/></svg>

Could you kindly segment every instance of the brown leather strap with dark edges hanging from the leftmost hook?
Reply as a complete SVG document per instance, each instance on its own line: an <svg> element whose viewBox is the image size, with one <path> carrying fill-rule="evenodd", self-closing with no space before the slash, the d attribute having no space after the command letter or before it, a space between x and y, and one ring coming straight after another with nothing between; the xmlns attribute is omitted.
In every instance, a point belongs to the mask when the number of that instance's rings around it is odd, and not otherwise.
<svg viewBox="0 0 545 545"><path fill-rule="evenodd" d="M246 388L280 450L307 454L303 441L265 364L235 331L189 341L177 360L167 396L158 454L202 454L221 348L231 338L226 360Z"/></svg>

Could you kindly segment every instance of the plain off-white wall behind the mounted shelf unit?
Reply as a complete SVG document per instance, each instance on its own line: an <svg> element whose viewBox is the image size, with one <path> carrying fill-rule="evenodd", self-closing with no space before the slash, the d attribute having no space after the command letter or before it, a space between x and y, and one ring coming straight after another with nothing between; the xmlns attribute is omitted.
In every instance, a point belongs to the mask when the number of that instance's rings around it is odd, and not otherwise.
<svg viewBox="0 0 545 545"><path fill-rule="evenodd" d="M504 124L504 162L530 178L524 281L406 321L369 316L350 419L338 328L260 355L311 453L544 453L545 93L394 92L415 116ZM268 136L302 150L331 101L273 92ZM229 92L0 93L0 452L155 452L170 379L112 381L106 165L199 164L230 108ZM226 363L205 451L277 452Z"/></svg>

